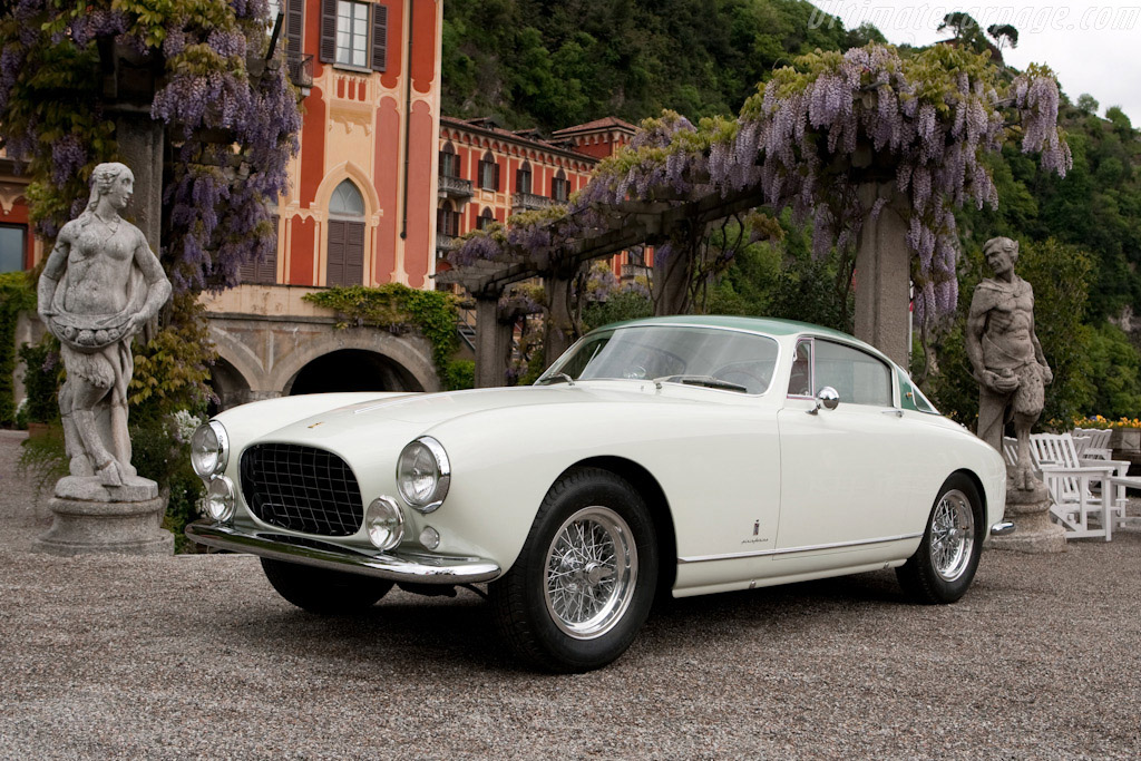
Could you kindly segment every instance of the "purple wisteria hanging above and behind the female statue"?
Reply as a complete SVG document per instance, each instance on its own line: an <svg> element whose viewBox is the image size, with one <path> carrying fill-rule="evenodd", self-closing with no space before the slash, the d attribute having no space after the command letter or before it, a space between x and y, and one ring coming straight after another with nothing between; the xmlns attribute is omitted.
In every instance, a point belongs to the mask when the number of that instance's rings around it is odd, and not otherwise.
<svg viewBox="0 0 1141 761"><path fill-rule="evenodd" d="M95 164L119 157L96 42L154 62L163 76L151 116L178 157L163 189L161 256L179 292L227 288L275 248L270 214L298 149L297 95L280 60L248 68L265 58L266 0L141 7L19 0L0 10L0 133L10 155L31 162L33 216L54 236L86 202ZM41 66L54 67L50 78L33 76ZM46 81L58 84L46 92Z"/></svg>

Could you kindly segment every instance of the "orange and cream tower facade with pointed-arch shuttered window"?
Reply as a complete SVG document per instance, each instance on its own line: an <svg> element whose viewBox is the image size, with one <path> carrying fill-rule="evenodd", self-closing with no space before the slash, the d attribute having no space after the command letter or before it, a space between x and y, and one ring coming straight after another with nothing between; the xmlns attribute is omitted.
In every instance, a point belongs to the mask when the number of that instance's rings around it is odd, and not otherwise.
<svg viewBox="0 0 1141 761"><path fill-rule="evenodd" d="M246 283L431 288L442 0L281 0L300 154Z"/></svg>

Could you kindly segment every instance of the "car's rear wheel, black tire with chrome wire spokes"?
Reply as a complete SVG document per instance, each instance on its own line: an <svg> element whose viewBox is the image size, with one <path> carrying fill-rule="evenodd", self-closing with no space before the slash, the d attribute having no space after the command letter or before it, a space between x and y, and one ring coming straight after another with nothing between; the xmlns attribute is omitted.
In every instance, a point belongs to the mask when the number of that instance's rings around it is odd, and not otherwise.
<svg viewBox="0 0 1141 761"><path fill-rule="evenodd" d="M931 505L915 554L896 568L904 591L917 602L947 604L963 597L982 554L982 500L974 483L952 473Z"/></svg>

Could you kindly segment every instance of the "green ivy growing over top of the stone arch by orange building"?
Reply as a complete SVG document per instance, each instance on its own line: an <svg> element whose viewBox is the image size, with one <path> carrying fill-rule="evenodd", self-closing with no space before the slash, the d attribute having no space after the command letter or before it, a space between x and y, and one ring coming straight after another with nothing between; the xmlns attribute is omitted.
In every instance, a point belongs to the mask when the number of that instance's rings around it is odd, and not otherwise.
<svg viewBox="0 0 1141 761"><path fill-rule="evenodd" d="M304 298L318 307L332 309L340 321L338 327L341 329L371 325L396 333L419 331L431 343L432 361L440 380L448 382L452 378L448 363L456 348L455 323L459 313L455 297L451 293L419 291L399 283L386 283L379 288L331 288L307 293Z"/></svg>

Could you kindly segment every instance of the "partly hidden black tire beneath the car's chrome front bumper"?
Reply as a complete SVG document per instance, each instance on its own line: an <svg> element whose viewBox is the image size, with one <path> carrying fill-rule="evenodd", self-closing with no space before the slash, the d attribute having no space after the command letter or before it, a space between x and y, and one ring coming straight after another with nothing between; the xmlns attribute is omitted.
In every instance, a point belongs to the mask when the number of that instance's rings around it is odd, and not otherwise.
<svg viewBox="0 0 1141 761"><path fill-rule="evenodd" d="M261 569L277 593L322 616L361 613L393 589L393 582L315 566L261 558Z"/></svg>

